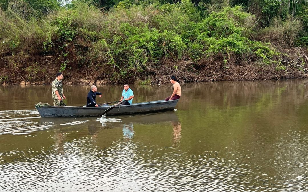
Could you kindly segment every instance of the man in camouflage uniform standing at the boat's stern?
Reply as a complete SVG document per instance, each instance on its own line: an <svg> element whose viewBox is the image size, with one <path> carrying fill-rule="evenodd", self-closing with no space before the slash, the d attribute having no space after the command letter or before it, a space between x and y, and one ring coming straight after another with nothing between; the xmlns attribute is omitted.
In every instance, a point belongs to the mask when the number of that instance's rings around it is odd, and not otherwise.
<svg viewBox="0 0 308 192"><path fill-rule="evenodd" d="M52 99L54 100L54 106L65 106L63 99L66 99L66 97L63 94L62 79L63 74L58 72L56 79L52 81Z"/></svg>

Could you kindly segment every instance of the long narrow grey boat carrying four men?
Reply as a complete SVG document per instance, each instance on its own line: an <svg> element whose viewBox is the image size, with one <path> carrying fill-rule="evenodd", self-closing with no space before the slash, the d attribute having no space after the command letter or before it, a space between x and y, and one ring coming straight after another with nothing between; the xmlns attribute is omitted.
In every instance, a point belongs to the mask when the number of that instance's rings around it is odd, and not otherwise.
<svg viewBox="0 0 308 192"><path fill-rule="evenodd" d="M179 100L157 100L143 103L134 103L131 105L120 105L112 108L106 113L111 115L128 115L138 113L151 113L160 111L172 111ZM103 107L75 107L75 106L35 106L42 117L88 117L102 116L103 112L111 106Z"/></svg>

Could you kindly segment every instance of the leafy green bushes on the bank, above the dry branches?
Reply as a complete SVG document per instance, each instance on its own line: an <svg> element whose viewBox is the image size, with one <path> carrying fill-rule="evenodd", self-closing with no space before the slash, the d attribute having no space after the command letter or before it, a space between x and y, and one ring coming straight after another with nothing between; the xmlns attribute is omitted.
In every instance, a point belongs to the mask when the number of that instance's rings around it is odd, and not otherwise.
<svg viewBox="0 0 308 192"><path fill-rule="evenodd" d="M308 9L302 7L298 18L283 18L271 12L279 4L267 0L261 12L271 15L270 24L261 29L259 18L224 2L209 13L213 1L112 1L108 11L94 1L73 1L45 16L36 14L34 2L10 1L0 9L0 55L11 56L8 67L18 65L25 73L40 69L33 63L22 66L25 61L16 61L21 55L51 55L59 71L99 71L111 82L148 80L166 60L189 61L190 72L213 60L225 69L244 61L284 69L280 47L308 44ZM178 65L169 67L178 70Z"/></svg>

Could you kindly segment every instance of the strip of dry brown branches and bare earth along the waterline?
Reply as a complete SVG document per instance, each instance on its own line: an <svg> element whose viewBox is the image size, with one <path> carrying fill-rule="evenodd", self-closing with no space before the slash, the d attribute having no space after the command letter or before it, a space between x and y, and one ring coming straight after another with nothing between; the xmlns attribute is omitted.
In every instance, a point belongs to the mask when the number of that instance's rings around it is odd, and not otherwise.
<svg viewBox="0 0 308 192"><path fill-rule="evenodd" d="M164 59L159 67L148 65L144 74L136 76L134 70L128 70L128 75L117 83L132 84L168 84L169 77L175 75L180 83L220 81L220 80L272 80L296 79L308 77L308 53L302 48L288 49L288 56L281 59L280 68L277 65L260 65L257 62L245 61L247 58L233 58L227 66L223 58L206 58L194 63L187 58L182 60ZM286 54L285 54L286 55ZM18 57L18 62L12 62L15 57L5 57L0 62L0 82L2 84L51 84L60 65L56 65L53 56ZM11 65L15 63L15 65ZM27 66L18 67L18 64ZM131 73L130 73L131 72ZM82 68L63 71L63 84L114 84L108 78L106 68Z"/></svg>

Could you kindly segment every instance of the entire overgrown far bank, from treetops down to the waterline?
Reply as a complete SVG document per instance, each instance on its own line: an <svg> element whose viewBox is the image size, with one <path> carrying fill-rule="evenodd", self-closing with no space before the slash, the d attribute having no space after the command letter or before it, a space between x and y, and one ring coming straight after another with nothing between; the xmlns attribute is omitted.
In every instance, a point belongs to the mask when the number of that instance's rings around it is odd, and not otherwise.
<svg viewBox="0 0 308 192"><path fill-rule="evenodd" d="M289 3L290 2L290 3ZM308 1L0 1L2 82L306 77ZM164 82L167 79L166 82Z"/></svg>

